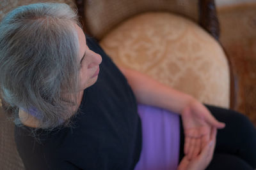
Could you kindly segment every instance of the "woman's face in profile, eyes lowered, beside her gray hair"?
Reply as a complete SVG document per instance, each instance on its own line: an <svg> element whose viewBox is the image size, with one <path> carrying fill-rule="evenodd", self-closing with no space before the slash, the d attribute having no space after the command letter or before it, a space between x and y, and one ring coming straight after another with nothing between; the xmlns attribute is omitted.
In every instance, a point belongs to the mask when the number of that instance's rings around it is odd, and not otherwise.
<svg viewBox="0 0 256 170"><path fill-rule="evenodd" d="M84 32L78 25L76 25L76 30L79 39L79 61L81 62L79 90L84 90L97 81L102 58L88 48Z"/></svg>

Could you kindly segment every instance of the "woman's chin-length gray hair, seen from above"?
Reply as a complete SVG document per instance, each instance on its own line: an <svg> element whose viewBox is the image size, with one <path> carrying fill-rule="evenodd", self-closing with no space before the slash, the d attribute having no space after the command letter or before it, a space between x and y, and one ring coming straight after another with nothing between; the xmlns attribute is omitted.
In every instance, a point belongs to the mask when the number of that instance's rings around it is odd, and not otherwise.
<svg viewBox="0 0 256 170"><path fill-rule="evenodd" d="M36 108L39 127L51 129L75 113L79 89L77 13L67 4L20 6L0 24L0 94L16 108ZM63 99L65 94L65 99Z"/></svg>

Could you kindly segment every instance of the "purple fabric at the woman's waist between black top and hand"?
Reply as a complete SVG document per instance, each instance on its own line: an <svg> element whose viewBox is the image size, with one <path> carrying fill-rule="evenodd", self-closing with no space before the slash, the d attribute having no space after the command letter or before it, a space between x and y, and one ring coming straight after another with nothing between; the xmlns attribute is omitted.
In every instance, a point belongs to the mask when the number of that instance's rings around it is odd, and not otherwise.
<svg viewBox="0 0 256 170"><path fill-rule="evenodd" d="M177 169L179 164L179 115L139 104L142 123L142 150L135 170Z"/></svg>

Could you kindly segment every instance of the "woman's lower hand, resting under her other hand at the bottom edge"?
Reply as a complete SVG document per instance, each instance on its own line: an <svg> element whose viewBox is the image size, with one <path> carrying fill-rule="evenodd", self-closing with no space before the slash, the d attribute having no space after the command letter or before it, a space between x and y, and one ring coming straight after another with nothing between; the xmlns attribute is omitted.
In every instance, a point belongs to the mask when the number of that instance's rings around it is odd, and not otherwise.
<svg viewBox="0 0 256 170"><path fill-rule="evenodd" d="M217 129L212 128L211 140L204 146L202 152L194 159L189 160L188 155L185 155L181 160L178 170L203 170L212 160L214 148L216 144Z"/></svg>

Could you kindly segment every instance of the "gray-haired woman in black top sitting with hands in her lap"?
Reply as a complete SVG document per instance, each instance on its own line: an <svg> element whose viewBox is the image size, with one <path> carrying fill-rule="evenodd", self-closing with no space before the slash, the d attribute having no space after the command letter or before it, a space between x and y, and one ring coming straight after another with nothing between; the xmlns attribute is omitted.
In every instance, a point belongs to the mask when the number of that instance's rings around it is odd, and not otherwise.
<svg viewBox="0 0 256 170"><path fill-rule="evenodd" d="M66 4L20 6L0 32L0 92L26 169L256 167L248 118L116 67Z"/></svg>

